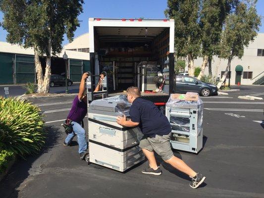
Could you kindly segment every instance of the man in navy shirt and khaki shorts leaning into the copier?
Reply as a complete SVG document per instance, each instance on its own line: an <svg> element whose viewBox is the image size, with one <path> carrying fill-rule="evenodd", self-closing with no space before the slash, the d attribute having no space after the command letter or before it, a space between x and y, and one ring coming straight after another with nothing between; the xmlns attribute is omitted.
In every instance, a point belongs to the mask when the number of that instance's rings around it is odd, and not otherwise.
<svg viewBox="0 0 264 198"><path fill-rule="evenodd" d="M173 155L170 147L171 127L167 117L151 101L140 98L140 90L137 87L127 89L130 107L130 120L126 117L117 117L117 123L126 127L141 128L144 137L140 141L140 148L149 160L149 167L142 170L144 174L160 175L161 170L157 165L154 151L174 168L184 172L192 178L189 184L192 188L199 187L206 177L191 169L183 160Z"/></svg>

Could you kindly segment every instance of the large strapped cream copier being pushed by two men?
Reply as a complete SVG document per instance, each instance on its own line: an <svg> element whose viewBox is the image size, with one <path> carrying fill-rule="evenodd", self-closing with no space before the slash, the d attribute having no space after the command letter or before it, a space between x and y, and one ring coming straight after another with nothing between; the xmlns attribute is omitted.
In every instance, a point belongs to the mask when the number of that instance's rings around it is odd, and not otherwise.
<svg viewBox="0 0 264 198"><path fill-rule="evenodd" d="M129 118L131 104L123 95L91 102L88 109L90 162L118 171L145 159L139 147L142 133L139 127L123 127L116 117Z"/></svg>

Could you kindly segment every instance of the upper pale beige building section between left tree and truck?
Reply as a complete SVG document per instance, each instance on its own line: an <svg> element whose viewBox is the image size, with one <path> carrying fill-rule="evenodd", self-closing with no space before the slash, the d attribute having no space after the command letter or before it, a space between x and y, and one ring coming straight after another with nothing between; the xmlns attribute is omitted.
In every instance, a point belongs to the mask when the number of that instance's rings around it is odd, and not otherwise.
<svg viewBox="0 0 264 198"><path fill-rule="evenodd" d="M89 52L89 33L76 37L71 43L64 46L67 50Z"/></svg>

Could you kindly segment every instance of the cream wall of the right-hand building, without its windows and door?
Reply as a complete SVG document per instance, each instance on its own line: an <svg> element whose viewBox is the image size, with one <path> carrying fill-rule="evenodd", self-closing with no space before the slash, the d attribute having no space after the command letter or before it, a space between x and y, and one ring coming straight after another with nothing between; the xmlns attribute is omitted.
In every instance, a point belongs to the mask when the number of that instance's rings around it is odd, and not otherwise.
<svg viewBox="0 0 264 198"><path fill-rule="evenodd" d="M239 59L235 57L231 62L231 85L235 84L236 72L235 68L237 65L243 66L243 72L253 72L252 79L243 79L243 73L241 76L241 85L252 85L257 79L264 76L264 56L258 56L258 49L264 49L264 33L259 33L255 38L254 42L250 43L248 48L244 49L244 56ZM264 54L263 54L264 55ZM217 69L220 59L213 56L212 60L212 75L221 77L221 71L225 71L227 66L227 60L221 59L220 65ZM194 61L196 67L201 67L203 58L198 58ZM208 67L206 68L206 74L208 74ZM261 75L260 75L261 74ZM226 79L226 83L228 79Z"/></svg>

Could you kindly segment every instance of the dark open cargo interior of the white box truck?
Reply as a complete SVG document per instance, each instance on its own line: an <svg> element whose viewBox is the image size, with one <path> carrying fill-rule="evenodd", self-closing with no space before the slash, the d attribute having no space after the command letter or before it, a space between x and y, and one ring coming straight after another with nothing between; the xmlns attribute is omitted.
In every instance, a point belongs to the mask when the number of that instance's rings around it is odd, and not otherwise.
<svg viewBox="0 0 264 198"><path fill-rule="evenodd" d="M94 46L98 54L94 69L107 72L109 93L130 86L153 91L158 88L153 78L166 67L169 28L94 27ZM148 78L143 80L142 75Z"/></svg>

